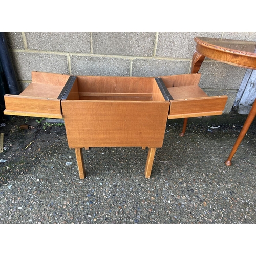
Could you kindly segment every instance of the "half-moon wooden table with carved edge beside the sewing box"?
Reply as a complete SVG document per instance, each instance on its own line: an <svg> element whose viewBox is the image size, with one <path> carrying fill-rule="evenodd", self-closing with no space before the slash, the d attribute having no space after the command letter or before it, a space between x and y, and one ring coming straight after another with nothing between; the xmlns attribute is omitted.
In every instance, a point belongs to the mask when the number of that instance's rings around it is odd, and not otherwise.
<svg viewBox="0 0 256 256"><path fill-rule="evenodd" d="M193 55L191 73L198 73L202 62L205 57L214 59L220 62L228 63L234 66L239 66L247 69L256 69L256 42L230 40L230 39L217 39L207 37L195 37L196 51ZM231 160L236 153L241 141L243 140L246 132L248 131L252 121L256 115L256 100L248 114L248 117L243 125L243 128L234 143L229 157L225 161L227 166L231 165ZM187 118L184 120L184 124ZM185 125L183 127L184 135Z"/></svg>

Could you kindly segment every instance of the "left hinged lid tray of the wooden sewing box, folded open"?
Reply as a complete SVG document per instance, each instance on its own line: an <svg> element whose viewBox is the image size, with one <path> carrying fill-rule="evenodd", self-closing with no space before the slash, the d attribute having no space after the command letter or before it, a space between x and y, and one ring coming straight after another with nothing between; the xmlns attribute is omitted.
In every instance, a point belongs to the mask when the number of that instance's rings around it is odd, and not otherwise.
<svg viewBox="0 0 256 256"><path fill-rule="evenodd" d="M19 95L4 96L5 115L62 118L60 100L73 76L32 71L32 82Z"/></svg>

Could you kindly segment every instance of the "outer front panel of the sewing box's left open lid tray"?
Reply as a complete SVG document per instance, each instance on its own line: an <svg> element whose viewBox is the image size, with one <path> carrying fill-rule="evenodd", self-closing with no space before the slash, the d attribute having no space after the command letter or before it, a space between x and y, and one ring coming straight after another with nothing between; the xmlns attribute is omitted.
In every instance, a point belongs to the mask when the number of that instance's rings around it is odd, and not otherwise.
<svg viewBox="0 0 256 256"><path fill-rule="evenodd" d="M6 94L6 115L62 118L60 100Z"/></svg>

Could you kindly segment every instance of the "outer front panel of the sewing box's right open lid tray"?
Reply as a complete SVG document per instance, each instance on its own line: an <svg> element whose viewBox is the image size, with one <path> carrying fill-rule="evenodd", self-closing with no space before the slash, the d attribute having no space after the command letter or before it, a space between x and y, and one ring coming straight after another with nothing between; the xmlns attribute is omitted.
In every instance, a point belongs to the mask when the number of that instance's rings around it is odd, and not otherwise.
<svg viewBox="0 0 256 256"><path fill-rule="evenodd" d="M168 119L205 116L210 115L210 112L211 115L220 115L225 108L227 98L227 96L212 96L187 100L171 100Z"/></svg>

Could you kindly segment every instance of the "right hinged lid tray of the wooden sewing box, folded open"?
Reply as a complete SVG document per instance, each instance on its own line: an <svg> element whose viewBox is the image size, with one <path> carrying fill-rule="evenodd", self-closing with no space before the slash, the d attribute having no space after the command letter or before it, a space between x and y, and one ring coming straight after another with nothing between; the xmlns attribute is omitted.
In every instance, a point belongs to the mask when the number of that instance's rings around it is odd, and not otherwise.
<svg viewBox="0 0 256 256"><path fill-rule="evenodd" d="M208 96L199 86L201 74L164 76L158 79L169 93L168 119L221 115L227 96Z"/></svg>

